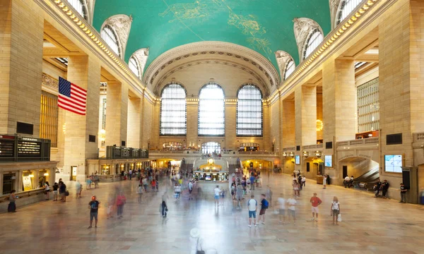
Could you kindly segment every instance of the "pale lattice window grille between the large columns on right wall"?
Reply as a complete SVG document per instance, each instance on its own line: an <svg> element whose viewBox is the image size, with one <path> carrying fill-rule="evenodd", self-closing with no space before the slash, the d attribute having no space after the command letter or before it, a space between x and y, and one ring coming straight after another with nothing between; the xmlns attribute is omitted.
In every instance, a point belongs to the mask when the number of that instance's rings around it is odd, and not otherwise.
<svg viewBox="0 0 424 254"><path fill-rule="evenodd" d="M358 132L379 129L379 79L358 86Z"/></svg>

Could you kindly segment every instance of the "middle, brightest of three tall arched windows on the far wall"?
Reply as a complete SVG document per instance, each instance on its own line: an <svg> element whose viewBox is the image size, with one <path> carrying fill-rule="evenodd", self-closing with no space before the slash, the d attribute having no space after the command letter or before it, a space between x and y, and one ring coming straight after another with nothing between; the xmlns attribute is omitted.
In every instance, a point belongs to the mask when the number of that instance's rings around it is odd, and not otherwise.
<svg viewBox="0 0 424 254"><path fill-rule="evenodd" d="M199 93L198 135L225 134L224 90L217 83L208 83Z"/></svg>

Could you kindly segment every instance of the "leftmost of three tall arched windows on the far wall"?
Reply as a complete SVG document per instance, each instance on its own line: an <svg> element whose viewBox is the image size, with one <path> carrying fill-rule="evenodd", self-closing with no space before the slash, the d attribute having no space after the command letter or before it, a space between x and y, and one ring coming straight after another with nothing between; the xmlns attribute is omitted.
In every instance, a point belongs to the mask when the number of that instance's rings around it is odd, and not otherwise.
<svg viewBox="0 0 424 254"><path fill-rule="evenodd" d="M160 135L186 135L186 91L179 83L170 83L162 90L160 103Z"/></svg>

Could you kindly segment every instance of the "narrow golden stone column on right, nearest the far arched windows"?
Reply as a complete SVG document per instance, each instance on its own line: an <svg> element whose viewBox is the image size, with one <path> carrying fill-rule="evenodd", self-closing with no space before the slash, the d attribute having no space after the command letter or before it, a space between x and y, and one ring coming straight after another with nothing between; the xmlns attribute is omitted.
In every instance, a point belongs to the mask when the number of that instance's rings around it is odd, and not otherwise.
<svg viewBox="0 0 424 254"><path fill-rule="evenodd" d="M295 146L295 101L283 99L281 102L281 139L282 147Z"/></svg>

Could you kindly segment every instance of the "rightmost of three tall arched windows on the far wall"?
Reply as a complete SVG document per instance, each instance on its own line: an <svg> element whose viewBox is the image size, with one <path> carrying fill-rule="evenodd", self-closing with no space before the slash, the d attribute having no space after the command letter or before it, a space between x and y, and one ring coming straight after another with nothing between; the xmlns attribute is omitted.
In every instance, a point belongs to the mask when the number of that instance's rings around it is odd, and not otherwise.
<svg viewBox="0 0 424 254"><path fill-rule="evenodd" d="M256 85L243 85L237 94L237 136L262 136L262 93Z"/></svg>

